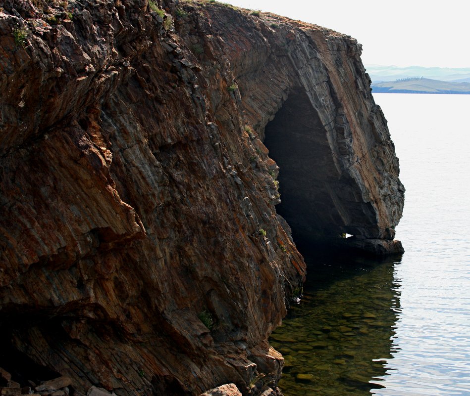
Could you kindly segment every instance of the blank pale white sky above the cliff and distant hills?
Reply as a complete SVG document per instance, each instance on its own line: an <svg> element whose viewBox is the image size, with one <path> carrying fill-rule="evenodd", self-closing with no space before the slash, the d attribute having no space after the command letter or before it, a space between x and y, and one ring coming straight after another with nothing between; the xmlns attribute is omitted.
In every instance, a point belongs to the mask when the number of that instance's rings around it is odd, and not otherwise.
<svg viewBox="0 0 470 396"><path fill-rule="evenodd" d="M363 44L364 64L470 67L468 0L220 1L350 35Z"/></svg>

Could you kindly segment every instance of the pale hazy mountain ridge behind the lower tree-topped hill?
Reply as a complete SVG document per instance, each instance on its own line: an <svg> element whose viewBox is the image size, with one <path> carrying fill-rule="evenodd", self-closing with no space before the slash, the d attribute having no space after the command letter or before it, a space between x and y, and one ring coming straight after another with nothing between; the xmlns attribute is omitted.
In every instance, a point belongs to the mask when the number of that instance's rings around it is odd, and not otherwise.
<svg viewBox="0 0 470 396"><path fill-rule="evenodd" d="M470 68L421 67L421 66L381 66L366 65L366 71L372 83L396 81L413 77L424 77L431 80L470 82Z"/></svg>

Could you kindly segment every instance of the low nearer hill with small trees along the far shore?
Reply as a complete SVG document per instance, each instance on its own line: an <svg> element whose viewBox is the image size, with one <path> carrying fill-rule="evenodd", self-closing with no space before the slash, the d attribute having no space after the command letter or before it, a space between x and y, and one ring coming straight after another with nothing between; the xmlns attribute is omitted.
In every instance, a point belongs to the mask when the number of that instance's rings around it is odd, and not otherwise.
<svg viewBox="0 0 470 396"><path fill-rule="evenodd" d="M427 78L409 78L372 83L372 92L388 93L460 93L470 94L470 83L439 81Z"/></svg>

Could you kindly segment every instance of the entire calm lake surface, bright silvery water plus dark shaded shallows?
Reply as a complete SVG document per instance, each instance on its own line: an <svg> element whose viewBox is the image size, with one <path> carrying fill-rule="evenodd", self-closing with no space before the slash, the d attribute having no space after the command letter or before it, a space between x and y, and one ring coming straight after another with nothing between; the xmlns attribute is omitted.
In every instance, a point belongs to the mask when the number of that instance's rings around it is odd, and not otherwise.
<svg viewBox="0 0 470 396"><path fill-rule="evenodd" d="M400 159L401 258L318 257L270 339L286 396L470 395L470 95L374 94Z"/></svg>

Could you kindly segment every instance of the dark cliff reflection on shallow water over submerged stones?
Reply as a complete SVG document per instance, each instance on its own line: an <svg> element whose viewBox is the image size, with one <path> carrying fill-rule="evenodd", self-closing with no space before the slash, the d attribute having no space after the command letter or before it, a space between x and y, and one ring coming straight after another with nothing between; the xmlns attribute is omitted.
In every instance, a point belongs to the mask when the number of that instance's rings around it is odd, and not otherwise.
<svg viewBox="0 0 470 396"><path fill-rule="evenodd" d="M309 272L300 303L271 335L285 359L279 387L286 396L381 388L400 309L394 262L325 259Z"/></svg>

